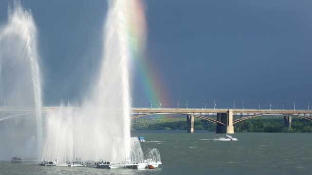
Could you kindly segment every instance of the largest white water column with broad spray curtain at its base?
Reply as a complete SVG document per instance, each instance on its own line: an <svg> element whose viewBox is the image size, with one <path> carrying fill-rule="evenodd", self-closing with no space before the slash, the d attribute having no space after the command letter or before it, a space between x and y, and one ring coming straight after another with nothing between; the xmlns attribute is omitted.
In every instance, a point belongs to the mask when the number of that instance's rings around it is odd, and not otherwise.
<svg viewBox="0 0 312 175"><path fill-rule="evenodd" d="M109 1L99 75L81 110L63 107L48 114L42 160L143 160L138 139L130 138L129 63L135 38L129 25L133 14L138 13L138 3L138 0Z"/></svg>

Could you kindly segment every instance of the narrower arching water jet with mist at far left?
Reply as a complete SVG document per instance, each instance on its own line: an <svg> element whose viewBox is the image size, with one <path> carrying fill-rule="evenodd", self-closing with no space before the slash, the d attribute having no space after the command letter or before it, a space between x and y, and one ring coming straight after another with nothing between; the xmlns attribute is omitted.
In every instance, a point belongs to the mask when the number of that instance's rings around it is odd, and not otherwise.
<svg viewBox="0 0 312 175"><path fill-rule="evenodd" d="M29 104L34 103L36 149L37 156L40 157L43 142L42 90L38 65L37 31L31 11L24 10L19 2L14 2L13 9L9 8L8 23L0 28L0 75L3 75L0 76L1 90L5 93L2 97L8 105L33 107ZM11 86L5 87L7 84ZM27 89L28 86L31 86L31 89ZM28 97L27 94L32 94L32 97Z"/></svg>

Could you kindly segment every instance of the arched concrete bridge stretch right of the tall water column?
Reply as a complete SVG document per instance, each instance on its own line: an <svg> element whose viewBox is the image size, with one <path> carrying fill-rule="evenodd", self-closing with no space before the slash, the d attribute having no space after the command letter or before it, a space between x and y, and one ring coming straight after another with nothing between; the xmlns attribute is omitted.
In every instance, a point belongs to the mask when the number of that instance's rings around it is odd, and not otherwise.
<svg viewBox="0 0 312 175"><path fill-rule="evenodd" d="M194 132L194 117L217 124L217 133L234 133L234 124L260 116L284 116L284 125L291 127L291 116L312 121L312 111L307 110L256 110L214 108L132 108L132 119L155 114L186 115L188 133Z"/></svg>

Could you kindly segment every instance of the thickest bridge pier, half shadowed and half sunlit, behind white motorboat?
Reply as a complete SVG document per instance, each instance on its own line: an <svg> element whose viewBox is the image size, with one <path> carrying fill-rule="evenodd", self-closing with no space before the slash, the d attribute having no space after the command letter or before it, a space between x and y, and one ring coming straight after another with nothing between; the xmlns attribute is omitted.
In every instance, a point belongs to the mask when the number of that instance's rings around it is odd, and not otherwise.
<svg viewBox="0 0 312 175"><path fill-rule="evenodd" d="M217 120L225 125L217 123L216 133L234 134L232 109L229 109L227 113L217 113Z"/></svg>

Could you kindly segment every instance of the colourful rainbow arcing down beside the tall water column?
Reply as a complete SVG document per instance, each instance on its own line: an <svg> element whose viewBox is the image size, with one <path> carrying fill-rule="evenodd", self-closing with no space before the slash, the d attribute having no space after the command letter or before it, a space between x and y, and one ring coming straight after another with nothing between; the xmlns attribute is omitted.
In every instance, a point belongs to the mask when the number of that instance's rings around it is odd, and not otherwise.
<svg viewBox="0 0 312 175"><path fill-rule="evenodd" d="M166 106L168 102L167 91L164 90L164 82L162 82L159 74L152 69L145 59L145 43L147 36L147 25L145 18L145 10L142 1L131 0L127 1L127 6L132 6L134 11L128 11L127 14L127 31L128 31L128 43L131 51L131 63L134 64L136 70L139 73L139 85L142 87L142 94L146 101L146 106L150 107L150 101L152 107ZM141 97L142 98L142 97Z"/></svg>

